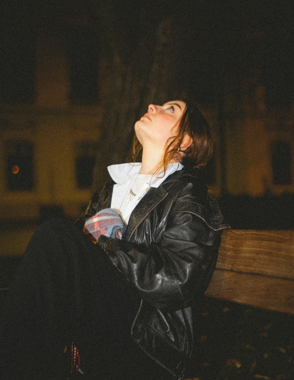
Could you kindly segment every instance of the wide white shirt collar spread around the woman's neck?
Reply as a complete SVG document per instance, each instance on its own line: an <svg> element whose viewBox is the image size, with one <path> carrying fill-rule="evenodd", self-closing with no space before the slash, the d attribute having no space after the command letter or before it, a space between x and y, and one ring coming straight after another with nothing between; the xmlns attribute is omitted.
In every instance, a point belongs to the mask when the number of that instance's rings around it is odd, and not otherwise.
<svg viewBox="0 0 294 380"><path fill-rule="evenodd" d="M117 184L123 184L137 177L140 172L141 165L141 162L116 164L108 166L107 170L114 182ZM183 167L184 166L180 162L172 162L168 164L165 173L162 171L154 176L151 187L159 187L165 178L175 171L181 170Z"/></svg>

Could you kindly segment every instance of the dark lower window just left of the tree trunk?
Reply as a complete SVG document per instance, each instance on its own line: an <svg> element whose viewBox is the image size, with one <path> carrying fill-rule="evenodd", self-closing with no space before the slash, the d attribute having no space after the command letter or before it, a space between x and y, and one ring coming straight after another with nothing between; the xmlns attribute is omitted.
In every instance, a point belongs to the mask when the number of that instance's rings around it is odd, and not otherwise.
<svg viewBox="0 0 294 380"><path fill-rule="evenodd" d="M98 144L92 141L80 141L76 144L76 184L80 189L88 189L93 182Z"/></svg>

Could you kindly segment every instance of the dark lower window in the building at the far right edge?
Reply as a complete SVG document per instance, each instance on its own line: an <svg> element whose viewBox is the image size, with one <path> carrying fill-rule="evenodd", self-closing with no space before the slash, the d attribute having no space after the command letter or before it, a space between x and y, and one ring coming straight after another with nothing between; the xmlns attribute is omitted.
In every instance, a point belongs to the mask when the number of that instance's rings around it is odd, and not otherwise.
<svg viewBox="0 0 294 380"><path fill-rule="evenodd" d="M287 141L272 143L272 171L275 185L292 183L291 145Z"/></svg>

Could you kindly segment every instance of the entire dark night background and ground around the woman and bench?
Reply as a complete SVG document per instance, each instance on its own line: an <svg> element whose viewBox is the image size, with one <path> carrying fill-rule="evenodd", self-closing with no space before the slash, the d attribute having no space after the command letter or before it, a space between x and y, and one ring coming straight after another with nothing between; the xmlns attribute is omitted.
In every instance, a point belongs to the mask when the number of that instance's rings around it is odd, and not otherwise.
<svg viewBox="0 0 294 380"><path fill-rule="evenodd" d="M146 105L183 90L217 131L216 154L198 175L232 228L293 229L293 8L274 0L3 2L0 297L35 228L52 216L75 218L105 180L103 168L125 160ZM16 176L13 165L24 169ZM187 377L291 380L292 326L291 315L206 297Z"/></svg>

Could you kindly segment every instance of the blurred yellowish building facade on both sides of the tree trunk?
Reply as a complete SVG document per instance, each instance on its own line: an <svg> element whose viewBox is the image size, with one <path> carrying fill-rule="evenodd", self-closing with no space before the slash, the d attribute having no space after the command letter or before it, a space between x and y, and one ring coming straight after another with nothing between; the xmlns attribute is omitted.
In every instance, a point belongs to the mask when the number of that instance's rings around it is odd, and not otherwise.
<svg viewBox="0 0 294 380"><path fill-rule="evenodd" d="M2 221L38 220L50 210L75 218L91 195L103 128L102 58L87 27L67 33L38 33L36 52L25 47L26 60L37 57L33 64L7 61L14 66L6 67L1 94ZM262 38L247 33L242 49L250 54L240 70L222 77L215 105L203 101L216 138L203 176L219 197L294 193L293 99L264 80Z"/></svg>

